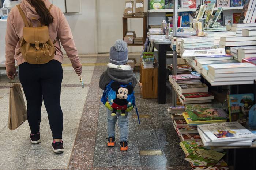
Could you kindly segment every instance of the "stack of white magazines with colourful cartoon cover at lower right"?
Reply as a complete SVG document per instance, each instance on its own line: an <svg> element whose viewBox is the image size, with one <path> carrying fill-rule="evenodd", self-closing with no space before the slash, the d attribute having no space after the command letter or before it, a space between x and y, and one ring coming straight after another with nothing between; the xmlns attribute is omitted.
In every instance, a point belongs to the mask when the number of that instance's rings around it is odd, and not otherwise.
<svg viewBox="0 0 256 170"><path fill-rule="evenodd" d="M256 135L238 122L198 125L204 146L251 146Z"/></svg>

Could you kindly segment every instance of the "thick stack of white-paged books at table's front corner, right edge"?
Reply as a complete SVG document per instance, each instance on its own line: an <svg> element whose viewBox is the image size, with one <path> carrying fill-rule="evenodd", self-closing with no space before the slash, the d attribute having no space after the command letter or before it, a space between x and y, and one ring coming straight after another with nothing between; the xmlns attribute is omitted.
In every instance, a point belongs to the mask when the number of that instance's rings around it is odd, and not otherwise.
<svg viewBox="0 0 256 170"><path fill-rule="evenodd" d="M251 63L227 63L208 65L208 78L212 86L253 84L256 66Z"/></svg>

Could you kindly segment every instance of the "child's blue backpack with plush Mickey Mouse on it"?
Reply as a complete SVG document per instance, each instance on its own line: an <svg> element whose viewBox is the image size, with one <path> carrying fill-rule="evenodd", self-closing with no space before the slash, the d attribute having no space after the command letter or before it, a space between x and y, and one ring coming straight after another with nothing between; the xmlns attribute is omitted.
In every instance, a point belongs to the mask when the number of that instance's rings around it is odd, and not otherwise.
<svg viewBox="0 0 256 170"><path fill-rule="evenodd" d="M111 116L116 116L117 112L121 112L121 116L125 116L126 112L130 112L135 107L139 120L132 83L124 85L112 80L106 86L106 90L103 92L101 102L109 110L112 110Z"/></svg>

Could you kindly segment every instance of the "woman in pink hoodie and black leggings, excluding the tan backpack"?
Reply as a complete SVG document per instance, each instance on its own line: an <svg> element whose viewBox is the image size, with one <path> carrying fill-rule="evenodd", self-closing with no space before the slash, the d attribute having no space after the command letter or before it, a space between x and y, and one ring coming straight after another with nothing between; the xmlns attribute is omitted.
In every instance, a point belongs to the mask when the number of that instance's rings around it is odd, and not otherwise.
<svg viewBox="0 0 256 170"><path fill-rule="evenodd" d="M19 65L19 79L27 99L27 120L33 144L41 142L40 122L42 101L48 113L52 130L52 148L55 153L64 151L62 141L63 113L60 106L60 91L63 78L61 62L63 53L60 43L67 52L75 72L80 76L82 64L76 50L73 36L64 14L56 6L48 10L51 3L48 0L22 0L20 7L28 21L35 18L41 24L48 26L49 36L54 41L56 53L54 59L46 64L29 64L20 53L20 42L23 36L24 21L17 7L14 7L7 19L6 32L6 70L7 76L14 79L17 76L15 60ZM37 21L38 22L38 21ZM33 26L37 26L33 20Z"/></svg>

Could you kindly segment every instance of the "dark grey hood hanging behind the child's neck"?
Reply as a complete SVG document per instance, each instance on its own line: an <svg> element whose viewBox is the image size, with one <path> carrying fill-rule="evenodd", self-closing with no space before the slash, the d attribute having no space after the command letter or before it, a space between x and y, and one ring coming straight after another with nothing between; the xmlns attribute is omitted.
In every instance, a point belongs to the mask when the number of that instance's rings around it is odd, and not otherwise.
<svg viewBox="0 0 256 170"><path fill-rule="evenodd" d="M118 70L114 68L107 68L107 74L110 79L120 82L121 84L128 84L132 81L133 70Z"/></svg>

